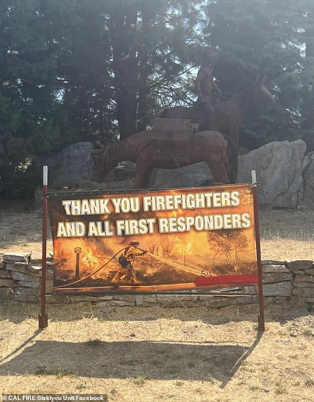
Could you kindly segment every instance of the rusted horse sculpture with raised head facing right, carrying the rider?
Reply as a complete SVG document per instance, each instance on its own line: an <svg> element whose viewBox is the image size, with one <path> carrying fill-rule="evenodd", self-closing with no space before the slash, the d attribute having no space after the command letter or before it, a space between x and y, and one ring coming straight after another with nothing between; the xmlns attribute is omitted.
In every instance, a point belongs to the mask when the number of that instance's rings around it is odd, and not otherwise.
<svg viewBox="0 0 314 402"><path fill-rule="evenodd" d="M200 110L196 106L176 106L165 109L161 117L190 119L192 123L200 124L200 130L216 129L231 137L236 147L239 146L239 132L245 113L262 104L274 102L273 95L264 85L266 76L261 81L236 94L232 99L221 101L214 105L215 121L213 126L208 112Z"/></svg>

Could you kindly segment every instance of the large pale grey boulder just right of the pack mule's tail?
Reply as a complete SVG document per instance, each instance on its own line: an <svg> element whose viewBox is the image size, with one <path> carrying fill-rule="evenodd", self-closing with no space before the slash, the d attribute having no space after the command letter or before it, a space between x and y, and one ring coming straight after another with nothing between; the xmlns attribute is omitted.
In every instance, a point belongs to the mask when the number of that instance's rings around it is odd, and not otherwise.
<svg viewBox="0 0 314 402"><path fill-rule="evenodd" d="M295 208L303 185L305 151L303 140L276 141L239 155L237 183L250 183L251 170L256 170L261 205Z"/></svg>

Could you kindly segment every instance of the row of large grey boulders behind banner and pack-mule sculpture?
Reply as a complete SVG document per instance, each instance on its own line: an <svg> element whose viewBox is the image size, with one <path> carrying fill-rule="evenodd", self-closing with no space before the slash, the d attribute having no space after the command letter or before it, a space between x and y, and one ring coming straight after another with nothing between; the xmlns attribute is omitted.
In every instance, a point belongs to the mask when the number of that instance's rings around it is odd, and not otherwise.
<svg viewBox="0 0 314 402"><path fill-rule="evenodd" d="M49 186L54 189L74 186L83 190L104 191L134 187L135 164L132 162L119 163L103 183L94 182L92 148L92 143L77 143L43 159L42 163L49 166ZM256 170L261 205L295 208L306 204L314 207L314 152L304 156L305 151L303 140L277 141L239 155L237 183L251 182L251 170ZM212 182L208 165L199 162L178 169L154 169L149 187L198 187Z"/></svg>

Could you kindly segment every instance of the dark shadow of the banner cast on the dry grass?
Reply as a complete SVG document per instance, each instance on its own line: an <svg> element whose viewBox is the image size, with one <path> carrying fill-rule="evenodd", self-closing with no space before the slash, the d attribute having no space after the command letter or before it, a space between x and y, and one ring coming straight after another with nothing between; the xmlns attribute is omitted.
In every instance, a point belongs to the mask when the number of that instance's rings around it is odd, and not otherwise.
<svg viewBox="0 0 314 402"><path fill-rule="evenodd" d="M260 339L258 336L251 347L193 342L37 341L2 363L0 375L63 373L92 378L201 380L218 381L224 388Z"/></svg>

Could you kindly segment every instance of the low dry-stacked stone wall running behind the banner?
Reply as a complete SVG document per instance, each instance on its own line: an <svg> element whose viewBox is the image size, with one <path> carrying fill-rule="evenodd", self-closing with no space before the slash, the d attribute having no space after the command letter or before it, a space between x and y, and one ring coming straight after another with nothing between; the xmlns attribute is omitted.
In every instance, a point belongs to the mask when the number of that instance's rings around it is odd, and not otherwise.
<svg viewBox="0 0 314 402"><path fill-rule="evenodd" d="M30 254L2 254L0 256L0 302L20 301L38 302L40 297L41 261L32 260ZM52 261L48 261L47 293L52 291ZM297 261L262 261L263 293L268 302L274 304L306 303L309 309L314 305L314 262L312 260ZM213 291L213 290L211 290ZM256 286L242 288L217 289L219 292L235 293L234 296L202 295L198 291L187 292L186 296L51 296L47 302L81 302L91 300L103 306L152 306L160 304L164 307L205 305L207 307L223 307L232 304L258 303L256 296L237 296L236 293L257 293Z"/></svg>

